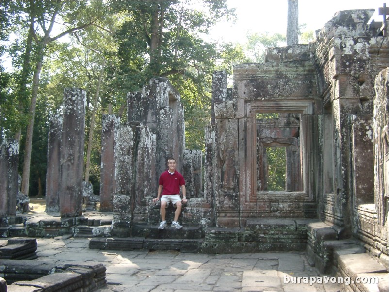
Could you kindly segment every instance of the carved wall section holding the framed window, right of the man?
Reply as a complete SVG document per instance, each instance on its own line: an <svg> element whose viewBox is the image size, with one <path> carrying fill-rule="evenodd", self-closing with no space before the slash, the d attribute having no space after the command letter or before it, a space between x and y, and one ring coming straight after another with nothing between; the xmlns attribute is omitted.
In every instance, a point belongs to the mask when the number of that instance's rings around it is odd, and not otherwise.
<svg viewBox="0 0 389 292"><path fill-rule="evenodd" d="M213 180L206 190L213 192L216 226L245 227L249 218L258 217L316 216L322 103L308 46L269 49L263 64L234 66L231 95L215 89L226 86L225 79L225 72L213 74L215 122L209 137L215 159L209 162ZM259 113L281 113L284 120L259 121ZM286 147L283 192L265 187L267 146Z"/></svg>

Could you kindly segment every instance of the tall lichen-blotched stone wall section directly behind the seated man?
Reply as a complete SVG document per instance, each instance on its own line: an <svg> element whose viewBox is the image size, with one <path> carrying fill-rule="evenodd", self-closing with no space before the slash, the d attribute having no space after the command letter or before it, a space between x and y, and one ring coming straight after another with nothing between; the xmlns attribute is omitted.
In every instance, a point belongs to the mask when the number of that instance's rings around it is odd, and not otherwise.
<svg viewBox="0 0 389 292"><path fill-rule="evenodd" d="M149 204L157 196L158 179L170 157L176 159L177 170L187 179L188 195L202 196L201 155L187 152L184 157L185 124L179 93L167 79L153 78L142 92L130 92L127 97L128 120L116 130L114 142L112 228L118 236L130 235L132 222L159 222L158 210Z"/></svg>

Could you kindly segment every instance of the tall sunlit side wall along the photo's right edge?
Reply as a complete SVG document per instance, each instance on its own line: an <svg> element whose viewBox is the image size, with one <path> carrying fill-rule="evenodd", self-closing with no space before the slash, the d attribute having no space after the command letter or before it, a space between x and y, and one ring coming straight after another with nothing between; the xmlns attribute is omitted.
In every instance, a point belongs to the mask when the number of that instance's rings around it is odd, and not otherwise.
<svg viewBox="0 0 389 292"><path fill-rule="evenodd" d="M338 12L310 43L323 98L319 208L325 222L343 227L340 237L362 239L388 266L385 172L380 170L385 163L379 146L385 144L381 130L388 123L388 36L369 27L373 11Z"/></svg>

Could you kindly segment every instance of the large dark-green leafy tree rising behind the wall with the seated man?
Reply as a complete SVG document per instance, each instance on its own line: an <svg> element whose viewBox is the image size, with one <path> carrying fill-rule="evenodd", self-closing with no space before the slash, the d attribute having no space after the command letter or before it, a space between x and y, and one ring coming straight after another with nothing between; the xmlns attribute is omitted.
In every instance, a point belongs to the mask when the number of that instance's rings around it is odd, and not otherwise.
<svg viewBox="0 0 389 292"><path fill-rule="evenodd" d="M192 109L197 114L201 111L202 114L186 128L190 134L189 129L195 124L196 132L200 134L197 129L204 129L199 125L205 125L211 104L212 71L225 60L224 52L231 51L231 47L226 49L205 42L201 36L221 17L233 15L226 1L110 3L113 11L126 15L126 21L116 35L119 63L108 69L112 86L123 95L140 90L152 77L168 77L181 93L185 117L191 115ZM203 132L201 136L203 140ZM195 137L192 135L192 138ZM187 145L196 146L196 143ZM197 147L202 148L201 145Z"/></svg>

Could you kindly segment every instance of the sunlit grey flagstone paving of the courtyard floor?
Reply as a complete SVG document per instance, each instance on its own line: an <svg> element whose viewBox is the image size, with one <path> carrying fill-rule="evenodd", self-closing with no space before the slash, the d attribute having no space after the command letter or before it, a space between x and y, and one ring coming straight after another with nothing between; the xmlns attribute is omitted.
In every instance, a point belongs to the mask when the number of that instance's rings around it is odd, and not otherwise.
<svg viewBox="0 0 389 292"><path fill-rule="evenodd" d="M99 291L340 291L339 284L304 283L329 275L319 275L302 252L104 251L89 249L89 240L78 238L37 243L37 260L104 264L108 285ZM292 283L298 277L300 283Z"/></svg>

